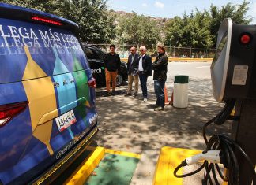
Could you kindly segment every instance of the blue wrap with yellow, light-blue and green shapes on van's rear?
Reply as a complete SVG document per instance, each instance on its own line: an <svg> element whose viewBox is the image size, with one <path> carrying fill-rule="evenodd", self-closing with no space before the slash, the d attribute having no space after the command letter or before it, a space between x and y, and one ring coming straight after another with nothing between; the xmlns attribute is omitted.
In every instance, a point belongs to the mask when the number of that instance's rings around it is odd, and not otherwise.
<svg viewBox="0 0 256 185"><path fill-rule="evenodd" d="M59 150L89 131L96 108L95 91L87 86L92 72L71 31L0 18L0 68L0 105L29 102L0 128L0 180L6 184L58 160ZM50 96L53 101L45 101ZM58 131L55 117L71 109L77 122Z"/></svg>

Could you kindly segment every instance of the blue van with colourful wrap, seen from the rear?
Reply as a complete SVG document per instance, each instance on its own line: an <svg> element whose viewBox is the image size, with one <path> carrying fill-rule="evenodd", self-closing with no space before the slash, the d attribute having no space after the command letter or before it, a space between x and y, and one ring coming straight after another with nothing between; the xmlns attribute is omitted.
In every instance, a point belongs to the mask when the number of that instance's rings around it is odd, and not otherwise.
<svg viewBox="0 0 256 185"><path fill-rule="evenodd" d="M0 184L49 183L96 135L96 80L77 31L0 3Z"/></svg>

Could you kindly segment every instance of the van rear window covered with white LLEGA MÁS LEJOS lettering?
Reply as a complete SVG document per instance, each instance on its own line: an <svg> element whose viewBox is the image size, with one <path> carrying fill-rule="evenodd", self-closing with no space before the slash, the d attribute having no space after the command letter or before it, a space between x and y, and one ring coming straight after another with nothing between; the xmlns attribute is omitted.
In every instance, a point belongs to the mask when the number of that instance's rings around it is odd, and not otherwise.
<svg viewBox="0 0 256 185"><path fill-rule="evenodd" d="M43 72L24 76L28 61ZM88 62L77 37L61 28L0 18L0 83L84 70ZM86 70L88 79L92 78Z"/></svg>

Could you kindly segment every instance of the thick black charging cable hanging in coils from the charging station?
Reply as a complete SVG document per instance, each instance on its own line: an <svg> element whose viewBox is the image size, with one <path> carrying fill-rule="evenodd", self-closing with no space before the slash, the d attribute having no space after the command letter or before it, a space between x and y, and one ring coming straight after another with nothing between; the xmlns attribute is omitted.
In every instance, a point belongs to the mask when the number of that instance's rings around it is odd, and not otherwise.
<svg viewBox="0 0 256 185"><path fill-rule="evenodd" d="M203 127L203 137L205 139L206 150L220 150L220 163L224 165L224 168L227 169L226 175L221 172L218 164L209 163L209 161L204 161L200 168L195 170L194 172L190 172L183 175L178 175L177 172L179 168L186 166L186 161L184 160L180 165L175 168L174 176L178 178L183 178L186 176L192 176L195 173L200 172L203 168L205 168L204 178L202 179L202 184L213 184L213 181L216 185L219 185L218 179L216 177L216 172L218 172L221 179L224 181L228 181L228 184L239 185L239 162L235 154L239 152L241 156L247 161L247 164L250 166L251 171L251 181L254 185L256 185L256 174L254 171L254 165L252 161L250 161L250 157L244 152L244 150L233 140L228 138L226 135L213 135L209 141L205 135L205 129L209 126L209 124L224 124L225 120L230 118L230 113L232 113L232 109L235 106L235 100L229 100L224 105L224 108L213 117L213 119L209 120Z"/></svg>

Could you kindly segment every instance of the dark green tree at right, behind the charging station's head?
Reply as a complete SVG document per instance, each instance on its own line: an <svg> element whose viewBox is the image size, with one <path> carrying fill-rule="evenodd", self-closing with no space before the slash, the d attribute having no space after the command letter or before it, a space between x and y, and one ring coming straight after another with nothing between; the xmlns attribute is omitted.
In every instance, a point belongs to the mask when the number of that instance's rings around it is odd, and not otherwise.
<svg viewBox="0 0 256 185"><path fill-rule="evenodd" d="M239 24L249 24L251 18L246 17L250 2L244 1L241 5L228 3L219 9L210 6L209 12L198 11L184 13L183 18L174 17L164 25L165 44L168 46L191 46L195 48L209 48L216 46L217 31L221 21L230 17Z"/></svg>

